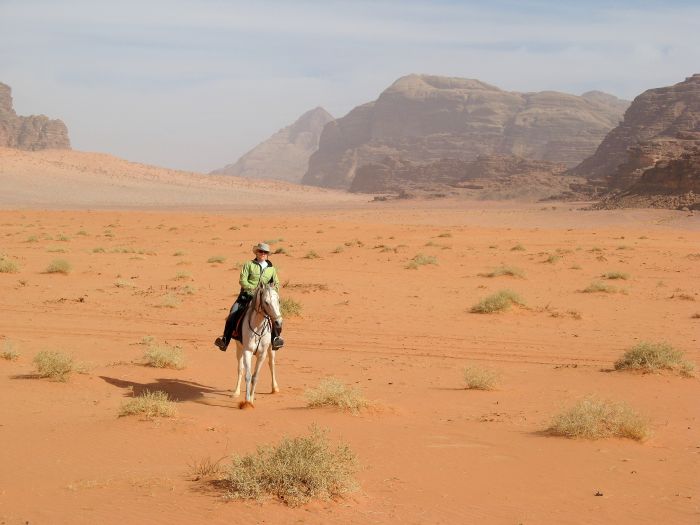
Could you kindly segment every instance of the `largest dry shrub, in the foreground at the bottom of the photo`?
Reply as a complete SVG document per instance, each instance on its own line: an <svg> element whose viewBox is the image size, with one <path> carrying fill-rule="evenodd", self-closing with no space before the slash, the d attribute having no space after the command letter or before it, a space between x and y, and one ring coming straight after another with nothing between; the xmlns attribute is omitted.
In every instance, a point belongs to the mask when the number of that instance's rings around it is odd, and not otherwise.
<svg viewBox="0 0 700 525"><path fill-rule="evenodd" d="M276 497L296 507L355 490L356 470L357 459L350 447L332 447L325 431L311 427L307 436L284 438L276 446L234 456L221 484L229 498Z"/></svg>

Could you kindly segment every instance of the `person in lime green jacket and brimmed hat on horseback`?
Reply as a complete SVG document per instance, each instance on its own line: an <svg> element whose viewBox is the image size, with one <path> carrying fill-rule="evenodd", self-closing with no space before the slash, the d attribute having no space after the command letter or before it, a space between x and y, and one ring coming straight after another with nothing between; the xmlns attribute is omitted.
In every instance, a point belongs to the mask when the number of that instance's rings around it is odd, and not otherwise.
<svg viewBox="0 0 700 525"><path fill-rule="evenodd" d="M241 268L241 276L239 282L241 283L241 291L238 294L236 302L231 306L231 311L226 319L226 326L224 327L224 335L222 337L217 337L214 344L219 347L222 352L226 351L231 337L233 337L233 332L238 324L238 319L240 315L245 312L246 307L253 298L255 289L258 284L272 284L275 288L279 290L279 277L277 276L277 268L272 265L272 262L268 260L270 255L270 247L264 242L258 243L253 246L253 253L255 254L255 259L247 261L243 268ZM277 350L284 345L284 341L277 333L277 329L272 324L272 349Z"/></svg>

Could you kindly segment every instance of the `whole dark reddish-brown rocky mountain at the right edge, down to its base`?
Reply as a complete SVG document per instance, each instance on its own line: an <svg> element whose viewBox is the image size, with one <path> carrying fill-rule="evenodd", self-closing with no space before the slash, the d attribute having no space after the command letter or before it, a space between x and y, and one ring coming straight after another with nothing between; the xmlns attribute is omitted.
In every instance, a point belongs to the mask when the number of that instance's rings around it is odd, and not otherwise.
<svg viewBox="0 0 700 525"><path fill-rule="evenodd" d="M595 154L569 173L613 190L606 206L646 202L676 207L678 199L661 197L700 194L700 74L635 98ZM693 206L694 199L681 200Z"/></svg>

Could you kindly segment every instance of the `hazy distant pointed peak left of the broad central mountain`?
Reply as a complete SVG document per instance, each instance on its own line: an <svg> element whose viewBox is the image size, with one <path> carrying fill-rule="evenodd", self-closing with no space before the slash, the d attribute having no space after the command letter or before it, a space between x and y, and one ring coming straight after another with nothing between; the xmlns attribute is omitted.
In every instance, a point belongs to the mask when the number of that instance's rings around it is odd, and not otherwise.
<svg viewBox="0 0 700 525"><path fill-rule="evenodd" d="M279 130L234 164L212 174L298 183L306 172L309 157L318 149L323 127L332 120L332 115L323 108L307 111L294 124Z"/></svg>

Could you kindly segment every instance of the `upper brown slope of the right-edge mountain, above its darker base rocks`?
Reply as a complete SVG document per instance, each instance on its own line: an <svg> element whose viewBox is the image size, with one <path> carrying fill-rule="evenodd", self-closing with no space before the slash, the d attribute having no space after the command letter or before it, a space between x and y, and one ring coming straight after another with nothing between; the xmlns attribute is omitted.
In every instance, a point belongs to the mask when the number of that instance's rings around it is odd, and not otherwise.
<svg viewBox="0 0 700 525"><path fill-rule="evenodd" d="M626 190L656 162L693 149L688 133L700 131L700 74L674 86L649 89L634 99L622 123L605 137L595 154L569 173L605 180Z"/></svg>

